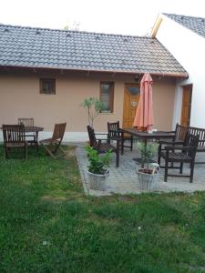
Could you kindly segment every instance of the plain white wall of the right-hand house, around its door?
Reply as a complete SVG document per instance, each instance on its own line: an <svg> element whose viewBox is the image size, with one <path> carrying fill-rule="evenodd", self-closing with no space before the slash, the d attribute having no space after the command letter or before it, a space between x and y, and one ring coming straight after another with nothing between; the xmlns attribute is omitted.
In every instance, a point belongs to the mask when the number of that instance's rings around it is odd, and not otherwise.
<svg viewBox="0 0 205 273"><path fill-rule="evenodd" d="M156 38L189 73L176 86L173 127L180 122L182 87L192 84L190 126L205 127L205 38L162 15Z"/></svg>

